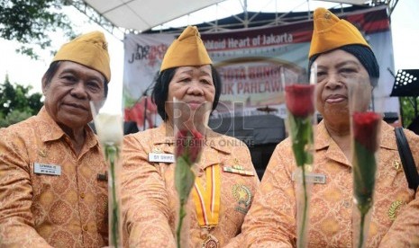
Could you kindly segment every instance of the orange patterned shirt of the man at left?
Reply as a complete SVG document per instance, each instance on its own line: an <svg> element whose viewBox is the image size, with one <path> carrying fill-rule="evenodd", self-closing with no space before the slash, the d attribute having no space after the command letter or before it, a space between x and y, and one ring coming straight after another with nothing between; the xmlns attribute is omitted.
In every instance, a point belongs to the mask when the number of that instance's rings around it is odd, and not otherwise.
<svg viewBox="0 0 419 248"><path fill-rule="evenodd" d="M77 156L45 111L0 129L0 246L102 247L107 243L105 160L92 130ZM34 173L55 164L60 175Z"/></svg>

